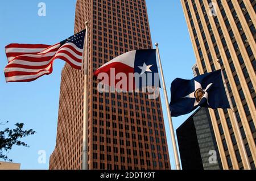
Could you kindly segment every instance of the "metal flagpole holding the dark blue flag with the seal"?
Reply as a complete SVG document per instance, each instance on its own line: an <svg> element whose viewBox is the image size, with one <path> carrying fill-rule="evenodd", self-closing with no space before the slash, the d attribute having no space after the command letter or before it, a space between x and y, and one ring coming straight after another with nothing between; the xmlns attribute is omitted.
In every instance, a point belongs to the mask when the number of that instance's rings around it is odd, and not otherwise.
<svg viewBox="0 0 256 181"><path fill-rule="evenodd" d="M243 144L243 138L242 138L242 134L241 134L241 131L240 131L240 127L238 125L238 121L237 121L237 116L236 116L236 112L234 111L234 106L233 106L233 103L232 103L232 100L230 98L230 94L229 94L229 91L228 91L228 86L226 85L226 81L225 81L225 77L224 77L224 74L223 74L223 71L221 69L221 62L220 60L218 59L217 60L218 62L218 65L220 65L220 70L221 70L221 75L222 75L222 81L224 83L224 87L225 87L225 91L226 91L226 95L228 96L228 101L229 101L229 105L230 105L230 108L232 110L232 113L233 113L233 118L234 118L234 123L233 123L233 126L234 128L233 129L236 129L237 131L237 144L240 145L241 147L241 154L243 155L243 157L245 158L245 170L251 170L251 166L250 166L250 162L249 162L249 159L247 157L247 152L246 152L246 148L245 148L245 144Z"/></svg>

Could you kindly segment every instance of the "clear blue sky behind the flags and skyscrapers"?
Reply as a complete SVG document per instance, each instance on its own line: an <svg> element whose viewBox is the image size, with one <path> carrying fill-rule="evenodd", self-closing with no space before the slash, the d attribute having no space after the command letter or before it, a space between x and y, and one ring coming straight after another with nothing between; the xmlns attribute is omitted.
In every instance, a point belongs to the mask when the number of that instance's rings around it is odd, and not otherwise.
<svg viewBox="0 0 256 181"><path fill-rule="evenodd" d="M38 15L38 4L46 3L46 16ZM191 40L180 0L146 0L152 41L159 43L167 89L179 77L193 78L195 64ZM5 46L10 43L55 44L73 34L75 0L9 0L0 2L0 122L13 127L17 122L36 134L24 138L30 148L15 146L8 154L21 169L48 169L49 156L55 148L61 69L64 62L56 60L53 73L34 82L6 83L3 69L7 64ZM170 99L170 91L168 91ZM163 102L163 94L161 95ZM163 104L171 165L174 168L166 107ZM189 115L173 118L175 129ZM39 150L46 151L46 163L38 162Z"/></svg>

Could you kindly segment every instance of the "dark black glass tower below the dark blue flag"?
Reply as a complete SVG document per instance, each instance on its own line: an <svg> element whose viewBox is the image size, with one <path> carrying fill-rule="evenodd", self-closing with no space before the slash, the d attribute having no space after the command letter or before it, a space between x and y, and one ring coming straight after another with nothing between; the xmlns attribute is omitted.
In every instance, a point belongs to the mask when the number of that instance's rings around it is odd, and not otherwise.
<svg viewBox="0 0 256 181"><path fill-rule="evenodd" d="M220 170L220 154L207 108L199 108L176 129L183 170Z"/></svg>

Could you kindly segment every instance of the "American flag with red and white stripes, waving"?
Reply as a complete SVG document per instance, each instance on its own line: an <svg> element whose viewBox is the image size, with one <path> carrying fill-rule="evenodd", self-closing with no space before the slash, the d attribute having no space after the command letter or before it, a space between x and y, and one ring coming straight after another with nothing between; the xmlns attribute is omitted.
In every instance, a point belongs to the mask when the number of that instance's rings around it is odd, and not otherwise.
<svg viewBox="0 0 256 181"><path fill-rule="evenodd" d="M84 38L85 30L55 45L7 45L8 65L4 69L6 82L31 82L51 74L56 58L64 60L75 69L81 69Z"/></svg>

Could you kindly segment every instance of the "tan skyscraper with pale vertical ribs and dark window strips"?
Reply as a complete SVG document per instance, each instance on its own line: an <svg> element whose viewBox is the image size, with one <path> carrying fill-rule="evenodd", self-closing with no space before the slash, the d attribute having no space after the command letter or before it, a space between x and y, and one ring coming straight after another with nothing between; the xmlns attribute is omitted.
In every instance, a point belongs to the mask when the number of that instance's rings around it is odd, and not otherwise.
<svg viewBox="0 0 256 181"><path fill-rule="evenodd" d="M219 69L240 126L250 166L256 163L256 2L181 0L200 74ZM232 110L209 110L224 169L247 169Z"/></svg>

